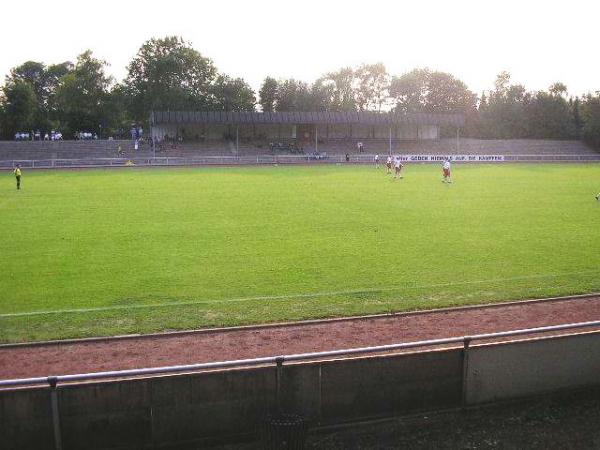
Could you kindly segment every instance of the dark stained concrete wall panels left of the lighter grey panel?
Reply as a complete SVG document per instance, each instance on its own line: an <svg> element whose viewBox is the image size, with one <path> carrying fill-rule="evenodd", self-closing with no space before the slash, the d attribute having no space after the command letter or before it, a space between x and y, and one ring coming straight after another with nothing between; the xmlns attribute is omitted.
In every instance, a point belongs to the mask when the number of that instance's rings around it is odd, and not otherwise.
<svg viewBox="0 0 600 450"><path fill-rule="evenodd" d="M313 424L457 406L460 350L286 365L282 406ZM152 448L255 433L276 412L264 367L64 385L63 448ZM0 391L0 448L52 448L50 390Z"/></svg>

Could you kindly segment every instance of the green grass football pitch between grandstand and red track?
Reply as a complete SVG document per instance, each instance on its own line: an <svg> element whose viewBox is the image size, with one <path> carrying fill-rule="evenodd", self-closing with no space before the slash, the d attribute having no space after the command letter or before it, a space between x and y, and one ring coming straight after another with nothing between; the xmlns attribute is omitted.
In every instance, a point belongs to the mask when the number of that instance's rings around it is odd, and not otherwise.
<svg viewBox="0 0 600 450"><path fill-rule="evenodd" d="M2 173L0 341L600 291L600 165L456 165L454 176L441 183L437 165L397 181L366 166L25 171L17 192Z"/></svg>

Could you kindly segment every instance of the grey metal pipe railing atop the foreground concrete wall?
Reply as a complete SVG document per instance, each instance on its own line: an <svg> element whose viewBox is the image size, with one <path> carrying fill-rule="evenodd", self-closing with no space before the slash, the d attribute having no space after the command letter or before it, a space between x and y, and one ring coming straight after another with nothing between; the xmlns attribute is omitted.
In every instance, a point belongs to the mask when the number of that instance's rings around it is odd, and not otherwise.
<svg viewBox="0 0 600 450"><path fill-rule="evenodd" d="M219 361L201 364L187 364L178 366L151 367L145 369L114 370L108 372L93 372L74 375L58 375L47 377L20 378L13 380L0 380L0 388L30 386L39 384L48 384L56 387L58 383L93 381L114 378L139 377L146 375L166 375L182 372L195 372L199 370L242 368L264 365L277 365L281 367L285 362L299 362L306 360L320 360L336 356L366 355L371 353L390 352L395 350L406 350L418 347L433 347L448 344L462 344L468 349L473 341L499 339L505 337L525 336L538 333L551 333L563 330L577 330L581 328L600 327L600 320L591 322L569 323L564 325L553 325L547 327L527 328L512 331L503 331L498 333L484 333L472 336L451 337L443 339L430 339L425 341L407 342L401 344L378 345L373 347L360 347L342 350L330 350L325 352L298 353L291 355L269 356L263 358L239 359L233 361Z"/></svg>

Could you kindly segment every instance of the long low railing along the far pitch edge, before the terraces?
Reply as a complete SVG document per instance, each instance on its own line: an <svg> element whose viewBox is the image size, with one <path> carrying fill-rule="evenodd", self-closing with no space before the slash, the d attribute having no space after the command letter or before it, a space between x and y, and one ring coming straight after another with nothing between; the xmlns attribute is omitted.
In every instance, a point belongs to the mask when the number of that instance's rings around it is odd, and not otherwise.
<svg viewBox="0 0 600 450"><path fill-rule="evenodd" d="M448 153L452 155L452 153ZM11 169L17 164L29 169L124 167L124 166L193 166L193 165L260 165L260 164L307 164L307 163L359 163L372 164L375 155L246 155L246 156L189 156L189 157L133 157L133 158L77 158L77 159L8 159L0 161L0 169ZM437 155L440 156L440 155ZM384 155L380 155L382 160ZM597 155L505 155L504 162L600 162ZM380 161L383 162L383 161ZM483 161L477 161L481 163Z"/></svg>

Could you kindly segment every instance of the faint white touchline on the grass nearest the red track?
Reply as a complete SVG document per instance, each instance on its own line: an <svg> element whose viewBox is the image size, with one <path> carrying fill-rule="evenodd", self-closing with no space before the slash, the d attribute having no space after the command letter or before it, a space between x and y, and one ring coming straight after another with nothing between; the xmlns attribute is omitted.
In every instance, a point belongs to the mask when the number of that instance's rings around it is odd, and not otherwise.
<svg viewBox="0 0 600 450"><path fill-rule="evenodd" d="M474 280L474 281L459 281L451 283L438 283L428 285L414 285L410 286L391 286L383 288L365 288L365 289L352 289L345 291L329 291L329 292L311 292L303 294L289 294L289 295L263 295L257 297L238 297L228 299L207 299L207 300L193 300L186 302L172 302L172 303L147 303L141 305L115 305L115 306L102 306L98 308L77 308L77 309L56 309L47 311L29 311L21 313L6 313L0 314L0 319L7 319L12 317L29 317L29 316L42 316L52 314L77 314L77 313L90 313L90 312L106 312L106 311L119 311L129 309L144 309L144 308L169 308L173 306L194 306L203 304L213 303L230 303L230 302L247 302L257 300L292 300L292 299L304 299L304 298L317 298L317 297L330 297L336 295L352 295L352 294L363 294L363 293L377 293L377 292L393 292L407 289L427 289L427 288L438 288L438 287L451 287L469 284L484 284L484 283L503 283L506 281L517 281L517 280L528 280L536 278L553 278L553 277L564 277L571 275L583 275L583 274L598 274L598 270L593 271L581 271L581 272L569 272L569 273L555 273L547 275L523 275L518 277L508 278L496 278L490 280Z"/></svg>

